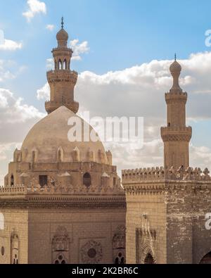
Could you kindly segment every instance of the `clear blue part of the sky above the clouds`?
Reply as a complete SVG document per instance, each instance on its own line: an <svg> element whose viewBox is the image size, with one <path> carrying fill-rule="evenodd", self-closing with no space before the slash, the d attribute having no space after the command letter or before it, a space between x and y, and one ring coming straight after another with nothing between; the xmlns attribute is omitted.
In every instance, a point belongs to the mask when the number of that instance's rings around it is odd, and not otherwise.
<svg viewBox="0 0 211 278"><path fill-rule="evenodd" d="M73 67L98 74L153 59L171 59L175 51L179 58L205 51L204 33L211 28L210 1L46 0L46 15L38 14L30 23L22 16L27 10L25 0L1 2L0 28L5 37L23 41L23 49L0 52L0 58L27 65L28 82L14 80L8 84L27 101L36 101L33 92L45 80L46 58L56 45L61 15L70 37L87 40L91 49ZM56 29L49 32L47 24L56 25Z"/></svg>

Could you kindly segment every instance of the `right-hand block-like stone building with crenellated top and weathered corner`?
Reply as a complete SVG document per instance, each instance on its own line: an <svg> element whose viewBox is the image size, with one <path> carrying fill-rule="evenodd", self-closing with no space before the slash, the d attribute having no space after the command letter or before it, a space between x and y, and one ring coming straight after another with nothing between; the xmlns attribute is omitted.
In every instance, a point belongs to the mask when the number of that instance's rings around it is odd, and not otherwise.
<svg viewBox="0 0 211 278"><path fill-rule="evenodd" d="M161 171L160 171L161 170ZM200 263L211 251L205 215L211 213L209 171L124 170L127 263Z"/></svg>

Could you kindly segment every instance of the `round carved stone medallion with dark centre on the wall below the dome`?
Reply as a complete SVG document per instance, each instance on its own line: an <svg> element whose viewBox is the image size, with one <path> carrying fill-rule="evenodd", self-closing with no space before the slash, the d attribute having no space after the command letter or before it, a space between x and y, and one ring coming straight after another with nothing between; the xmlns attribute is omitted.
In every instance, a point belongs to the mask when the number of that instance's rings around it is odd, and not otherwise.
<svg viewBox="0 0 211 278"><path fill-rule="evenodd" d="M100 242L94 240L88 241L80 250L82 263L97 264L101 263L103 258L103 248Z"/></svg>

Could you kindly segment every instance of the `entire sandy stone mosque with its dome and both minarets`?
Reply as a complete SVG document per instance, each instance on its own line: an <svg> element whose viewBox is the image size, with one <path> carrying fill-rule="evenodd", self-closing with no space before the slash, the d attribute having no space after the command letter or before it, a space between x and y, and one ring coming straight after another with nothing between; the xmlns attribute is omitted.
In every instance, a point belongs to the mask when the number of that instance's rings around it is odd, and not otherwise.
<svg viewBox="0 0 211 278"><path fill-rule="evenodd" d="M211 263L211 178L189 166L181 65L176 58L170 65L163 167L122 170L121 183L112 153L84 140L94 129L77 115L63 24L56 39L48 115L14 151L0 188L0 263ZM72 118L83 127L81 141L68 138Z"/></svg>

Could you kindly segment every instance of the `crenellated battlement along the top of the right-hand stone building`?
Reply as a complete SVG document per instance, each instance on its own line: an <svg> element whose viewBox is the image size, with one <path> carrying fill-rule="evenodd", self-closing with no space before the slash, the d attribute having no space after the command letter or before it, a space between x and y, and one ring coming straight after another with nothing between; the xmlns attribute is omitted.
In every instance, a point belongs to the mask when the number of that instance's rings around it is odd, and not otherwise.
<svg viewBox="0 0 211 278"><path fill-rule="evenodd" d="M162 167L122 170L122 184L165 180L211 182L211 177L207 168L205 168L203 171L200 170L200 168L193 169L191 167L188 167L186 170L184 170L182 166L178 170L174 170L174 168L165 170Z"/></svg>

